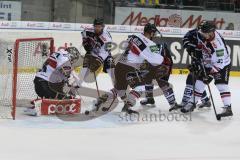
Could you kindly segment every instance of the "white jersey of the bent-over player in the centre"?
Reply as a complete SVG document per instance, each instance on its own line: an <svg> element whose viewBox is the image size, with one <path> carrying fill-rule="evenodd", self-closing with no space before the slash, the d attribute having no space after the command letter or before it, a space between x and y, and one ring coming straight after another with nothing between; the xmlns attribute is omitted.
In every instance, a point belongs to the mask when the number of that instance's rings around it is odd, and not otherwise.
<svg viewBox="0 0 240 160"><path fill-rule="evenodd" d="M154 66L162 64L163 56L161 55L161 48L143 34L132 35L129 39L129 51L126 63L130 65L142 64L144 60Z"/></svg>

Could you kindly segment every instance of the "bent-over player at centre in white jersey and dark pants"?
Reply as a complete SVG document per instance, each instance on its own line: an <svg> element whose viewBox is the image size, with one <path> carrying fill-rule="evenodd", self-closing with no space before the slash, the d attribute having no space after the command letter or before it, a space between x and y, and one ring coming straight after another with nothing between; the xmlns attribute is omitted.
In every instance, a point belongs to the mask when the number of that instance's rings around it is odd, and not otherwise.
<svg viewBox="0 0 240 160"><path fill-rule="evenodd" d="M97 107L109 99L115 99L118 95L125 102L122 111L129 114L136 113L130 107L135 105L136 98L142 94L138 86L150 83L152 79L157 80L159 86L164 90L163 92L166 93L164 95L166 95L169 104L174 107L176 102L173 90L168 82L161 80L168 73L168 68L162 65L164 58L161 55L161 50L151 40L158 32L155 25L148 23L144 27L144 33L130 36L129 46L115 67L113 94L105 94L100 97L96 104ZM128 85L133 90L126 95Z"/></svg>

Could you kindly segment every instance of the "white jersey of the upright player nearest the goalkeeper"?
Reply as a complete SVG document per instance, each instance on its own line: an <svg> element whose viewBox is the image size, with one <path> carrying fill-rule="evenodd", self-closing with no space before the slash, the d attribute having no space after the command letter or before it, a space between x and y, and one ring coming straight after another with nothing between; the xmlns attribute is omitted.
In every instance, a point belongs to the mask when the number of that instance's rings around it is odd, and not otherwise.
<svg viewBox="0 0 240 160"><path fill-rule="evenodd" d="M99 36L95 34L94 28L85 29L82 32L82 38L83 40L90 38L95 41L95 46L91 51L93 55L100 56L105 60L111 54L112 37L106 29Z"/></svg>

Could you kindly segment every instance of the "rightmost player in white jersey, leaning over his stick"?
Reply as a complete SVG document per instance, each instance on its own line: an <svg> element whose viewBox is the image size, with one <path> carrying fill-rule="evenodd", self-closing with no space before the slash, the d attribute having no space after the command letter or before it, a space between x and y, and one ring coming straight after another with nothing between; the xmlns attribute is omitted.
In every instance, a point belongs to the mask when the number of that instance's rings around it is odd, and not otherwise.
<svg viewBox="0 0 240 160"><path fill-rule="evenodd" d="M202 74L200 73L201 76L198 77L195 83L195 102L201 98L206 84L214 79L224 104L223 112L219 114L219 116L232 116L231 93L228 87L231 59L225 41L216 31L216 26L213 22L204 22L200 26L199 32L205 38L205 40L198 39L198 48L202 49L202 58L199 59L199 68L204 67L206 74L204 74L204 69L202 69ZM192 96L188 104L184 106L181 111L186 113L193 110L194 98Z"/></svg>

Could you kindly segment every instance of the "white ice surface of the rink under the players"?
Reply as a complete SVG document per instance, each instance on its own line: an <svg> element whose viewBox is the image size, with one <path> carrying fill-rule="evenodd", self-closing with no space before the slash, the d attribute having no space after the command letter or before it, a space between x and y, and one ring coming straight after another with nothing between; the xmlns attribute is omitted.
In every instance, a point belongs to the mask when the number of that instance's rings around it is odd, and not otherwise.
<svg viewBox="0 0 240 160"><path fill-rule="evenodd" d="M179 75L170 78L178 102L185 79ZM100 75L98 82L101 89L111 88L107 75ZM15 121L0 120L0 160L239 160L239 82L240 78L230 78L234 116L220 122L213 109L196 111L187 122L127 122L117 114L65 122L54 116L28 117L18 111ZM211 88L220 112L219 93L214 85ZM91 101L85 98L83 105L91 105ZM164 97L156 101L157 108L147 113L161 110L168 114Z"/></svg>

